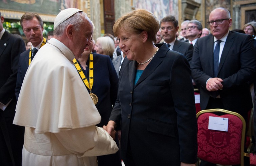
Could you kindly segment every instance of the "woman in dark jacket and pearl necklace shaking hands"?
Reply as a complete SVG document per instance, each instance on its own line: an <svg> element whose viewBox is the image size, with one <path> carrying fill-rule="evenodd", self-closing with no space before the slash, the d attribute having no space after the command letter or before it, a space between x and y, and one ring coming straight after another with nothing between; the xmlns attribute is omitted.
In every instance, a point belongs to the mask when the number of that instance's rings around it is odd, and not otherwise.
<svg viewBox="0 0 256 166"><path fill-rule="evenodd" d="M197 120L189 62L165 43L153 44L158 30L159 21L145 9L115 22L113 32L126 58L117 100L103 128L112 134L121 126L125 166L195 166Z"/></svg>

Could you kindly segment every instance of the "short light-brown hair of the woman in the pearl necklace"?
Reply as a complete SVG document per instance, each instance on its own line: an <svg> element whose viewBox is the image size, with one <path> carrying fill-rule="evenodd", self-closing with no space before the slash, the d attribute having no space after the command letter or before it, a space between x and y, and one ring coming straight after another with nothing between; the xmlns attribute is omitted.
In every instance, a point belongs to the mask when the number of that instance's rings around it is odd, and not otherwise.
<svg viewBox="0 0 256 166"><path fill-rule="evenodd" d="M120 30L134 34L147 32L147 40L156 42L156 33L160 25L156 16L146 9L137 9L120 17L113 26L114 35L118 37Z"/></svg>

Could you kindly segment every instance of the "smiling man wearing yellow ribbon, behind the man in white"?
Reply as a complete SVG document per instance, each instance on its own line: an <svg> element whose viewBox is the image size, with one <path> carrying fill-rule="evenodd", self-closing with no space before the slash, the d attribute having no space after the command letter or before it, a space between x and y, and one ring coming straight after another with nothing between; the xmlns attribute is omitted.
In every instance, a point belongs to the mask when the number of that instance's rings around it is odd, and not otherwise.
<svg viewBox="0 0 256 166"><path fill-rule="evenodd" d="M37 51L46 43L43 37L43 21L36 13L25 13L20 20L23 32L29 42L31 48L20 54L19 69L17 74L17 85L15 88L15 95L18 99L21 85L25 77L26 71L32 62Z"/></svg>

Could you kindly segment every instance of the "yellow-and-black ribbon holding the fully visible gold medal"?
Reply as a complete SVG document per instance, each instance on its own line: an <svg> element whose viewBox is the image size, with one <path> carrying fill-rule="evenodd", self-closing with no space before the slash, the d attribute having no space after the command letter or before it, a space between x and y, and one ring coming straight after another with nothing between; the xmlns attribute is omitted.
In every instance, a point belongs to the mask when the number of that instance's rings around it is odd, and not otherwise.
<svg viewBox="0 0 256 166"><path fill-rule="evenodd" d="M92 52L90 53L90 63L89 63L89 81L86 79L81 67L79 66L76 58L73 60L74 65L76 66L76 69L81 76L84 85L90 90L90 93L92 93L92 88L93 88L93 54Z"/></svg>

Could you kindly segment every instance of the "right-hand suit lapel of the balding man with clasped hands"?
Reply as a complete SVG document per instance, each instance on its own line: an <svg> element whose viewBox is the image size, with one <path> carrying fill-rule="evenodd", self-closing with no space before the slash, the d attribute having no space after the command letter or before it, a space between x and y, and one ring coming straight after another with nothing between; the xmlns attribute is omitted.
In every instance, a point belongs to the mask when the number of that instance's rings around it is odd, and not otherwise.
<svg viewBox="0 0 256 166"><path fill-rule="evenodd" d="M228 37L227 37L227 40L225 42L225 45L224 45L224 48L223 48L223 51L221 53L221 57L220 57L220 63L219 63L219 68L218 68L218 73L220 71L220 69L222 68L223 66L223 63L225 62L225 59L227 58L228 54L229 54L229 50L234 42L234 35L233 33L229 32L228 34Z"/></svg>

